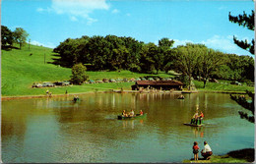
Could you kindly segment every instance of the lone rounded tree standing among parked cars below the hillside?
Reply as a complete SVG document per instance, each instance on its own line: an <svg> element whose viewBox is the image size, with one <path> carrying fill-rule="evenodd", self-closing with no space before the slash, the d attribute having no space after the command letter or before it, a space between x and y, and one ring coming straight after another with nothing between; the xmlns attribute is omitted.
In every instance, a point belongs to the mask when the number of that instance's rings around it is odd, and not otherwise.
<svg viewBox="0 0 256 164"><path fill-rule="evenodd" d="M75 64L72 67L71 81L75 84L82 84L89 78L86 75L87 68L82 63Z"/></svg>

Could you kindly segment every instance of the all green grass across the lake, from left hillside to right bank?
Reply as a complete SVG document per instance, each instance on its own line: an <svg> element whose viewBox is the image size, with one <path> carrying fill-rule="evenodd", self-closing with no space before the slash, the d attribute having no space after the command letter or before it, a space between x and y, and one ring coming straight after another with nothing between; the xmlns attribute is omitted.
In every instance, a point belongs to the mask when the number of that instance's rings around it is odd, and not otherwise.
<svg viewBox="0 0 256 164"><path fill-rule="evenodd" d="M55 58L51 48L31 45L29 49L12 49L1 51L1 75L2 75L2 96L21 95L43 95L47 88L32 88L33 82L57 82L68 81L71 76L71 69L62 68L51 64ZM149 76L149 74L138 74L129 71L120 72L87 72L89 79L131 79ZM174 74L174 73L173 73ZM162 78L173 77L165 73L158 76ZM244 91L254 90L252 86L240 86L233 84L221 84L208 82L203 88L203 82L194 81L198 90L205 91ZM53 94L81 93L88 91L104 91L108 89L130 90L134 82L113 82L113 83L88 83L65 87L49 88Z"/></svg>

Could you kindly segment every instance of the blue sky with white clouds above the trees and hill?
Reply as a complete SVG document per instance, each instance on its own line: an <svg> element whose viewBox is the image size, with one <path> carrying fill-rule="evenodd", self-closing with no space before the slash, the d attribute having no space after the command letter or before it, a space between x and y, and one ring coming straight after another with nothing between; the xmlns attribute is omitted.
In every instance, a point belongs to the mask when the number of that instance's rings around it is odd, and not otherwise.
<svg viewBox="0 0 256 164"><path fill-rule="evenodd" d="M252 0L2 0L1 25L23 27L31 43L55 48L83 35L130 36L145 43L167 37L174 47L202 43L224 53L250 55L233 43L254 31L228 21L251 14Z"/></svg>

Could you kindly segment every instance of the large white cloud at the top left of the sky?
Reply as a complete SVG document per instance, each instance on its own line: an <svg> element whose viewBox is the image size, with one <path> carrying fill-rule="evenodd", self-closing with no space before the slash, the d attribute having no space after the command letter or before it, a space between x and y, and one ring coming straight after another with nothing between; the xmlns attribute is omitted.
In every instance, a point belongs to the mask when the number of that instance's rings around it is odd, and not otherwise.
<svg viewBox="0 0 256 164"><path fill-rule="evenodd" d="M82 18L88 20L88 24L92 24L96 19L91 18L90 14L95 10L108 10L109 7L105 0L52 0L50 8L37 8L36 11L68 15L71 21Z"/></svg>

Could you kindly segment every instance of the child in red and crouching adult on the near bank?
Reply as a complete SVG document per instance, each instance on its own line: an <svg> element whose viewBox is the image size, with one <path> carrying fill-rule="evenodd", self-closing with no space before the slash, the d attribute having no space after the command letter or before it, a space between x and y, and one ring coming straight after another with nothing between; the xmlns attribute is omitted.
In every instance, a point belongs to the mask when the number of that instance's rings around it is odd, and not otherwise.
<svg viewBox="0 0 256 164"><path fill-rule="evenodd" d="M193 148L194 160L198 160L198 153L200 148L198 146L197 141L194 142L194 145L192 148ZM212 154L213 154L213 151L210 145L207 143L207 141L204 141L204 149L201 150L201 155L204 157L204 160L209 160Z"/></svg>

